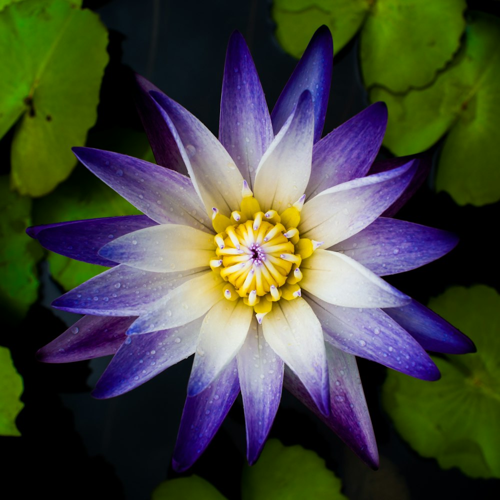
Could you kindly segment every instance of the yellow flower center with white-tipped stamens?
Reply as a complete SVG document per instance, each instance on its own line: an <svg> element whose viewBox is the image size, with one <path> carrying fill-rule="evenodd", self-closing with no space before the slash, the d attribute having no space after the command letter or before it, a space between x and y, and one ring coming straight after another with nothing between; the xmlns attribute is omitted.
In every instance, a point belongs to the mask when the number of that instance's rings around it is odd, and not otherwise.
<svg viewBox="0 0 500 500"><path fill-rule="evenodd" d="M210 267L227 281L224 297L242 299L254 308L259 322L273 302L300 296L300 263L318 246L300 238L296 228L303 198L280 214L275 210L264 213L244 182L239 211L229 218L213 209L217 248Z"/></svg>

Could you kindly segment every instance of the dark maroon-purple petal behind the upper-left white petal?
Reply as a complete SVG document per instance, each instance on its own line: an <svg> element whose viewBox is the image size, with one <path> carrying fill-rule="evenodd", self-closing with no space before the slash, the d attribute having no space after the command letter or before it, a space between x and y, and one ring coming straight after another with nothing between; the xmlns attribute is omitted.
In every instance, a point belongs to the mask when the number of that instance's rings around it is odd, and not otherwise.
<svg viewBox="0 0 500 500"><path fill-rule="evenodd" d="M149 94L151 90L160 93L161 90L138 74L135 75L135 81L137 85L134 97L137 112L142 120L156 163L186 175L187 168L172 132Z"/></svg>

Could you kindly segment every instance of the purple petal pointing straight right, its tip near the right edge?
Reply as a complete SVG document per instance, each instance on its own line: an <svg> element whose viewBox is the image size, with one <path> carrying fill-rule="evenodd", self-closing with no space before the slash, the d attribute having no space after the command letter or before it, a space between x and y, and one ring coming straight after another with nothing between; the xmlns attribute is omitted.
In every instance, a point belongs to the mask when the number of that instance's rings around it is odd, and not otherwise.
<svg viewBox="0 0 500 500"><path fill-rule="evenodd" d="M385 276L424 265L450 251L458 238L447 231L379 217L357 234L332 246L375 274Z"/></svg>

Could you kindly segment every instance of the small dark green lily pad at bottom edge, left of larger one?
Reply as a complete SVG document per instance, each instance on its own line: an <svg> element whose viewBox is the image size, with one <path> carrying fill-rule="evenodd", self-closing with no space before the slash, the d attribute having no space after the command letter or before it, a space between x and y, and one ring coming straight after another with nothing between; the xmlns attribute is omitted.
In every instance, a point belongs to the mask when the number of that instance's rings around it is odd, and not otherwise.
<svg viewBox="0 0 500 500"><path fill-rule="evenodd" d="M151 500L225 500L215 486L197 475L179 477L160 482L151 495Z"/></svg>

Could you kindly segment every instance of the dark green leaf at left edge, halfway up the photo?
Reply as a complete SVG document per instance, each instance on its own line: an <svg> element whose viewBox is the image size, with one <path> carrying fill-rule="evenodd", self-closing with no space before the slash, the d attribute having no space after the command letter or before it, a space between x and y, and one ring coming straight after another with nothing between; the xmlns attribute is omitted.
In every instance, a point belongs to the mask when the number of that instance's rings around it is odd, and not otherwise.
<svg viewBox="0 0 500 500"><path fill-rule="evenodd" d="M31 225L31 199L10 191L8 182L7 176L0 177L0 302L10 316L20 319L37 297L35 267L42 251L25 233Z"/></svg>

